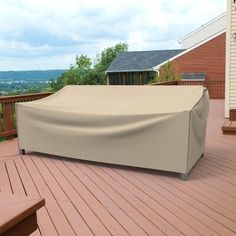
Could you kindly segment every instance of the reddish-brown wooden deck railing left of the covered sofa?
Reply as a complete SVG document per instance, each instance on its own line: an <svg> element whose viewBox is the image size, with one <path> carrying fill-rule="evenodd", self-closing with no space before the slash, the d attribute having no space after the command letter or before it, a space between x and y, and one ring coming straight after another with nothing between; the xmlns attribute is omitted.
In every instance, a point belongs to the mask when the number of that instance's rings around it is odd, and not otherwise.
<svg viewBox="0 0 236 236"><path fill-rule="evenodd" d="M28 102L47 97L52 93L25 94L0 97L0 138L16 134L15 103Z"/></svg>

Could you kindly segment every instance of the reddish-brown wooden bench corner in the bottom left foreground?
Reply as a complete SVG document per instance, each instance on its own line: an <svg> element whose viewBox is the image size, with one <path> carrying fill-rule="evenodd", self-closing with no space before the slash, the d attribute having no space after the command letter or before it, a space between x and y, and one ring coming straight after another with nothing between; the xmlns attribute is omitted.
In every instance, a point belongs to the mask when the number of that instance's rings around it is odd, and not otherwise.
<svg viewBox="0 0 236 236"><path fill-rule="evenodd" d="M0 235L26 236L38 228L36 211L44 199L0 193Z"/></svg>

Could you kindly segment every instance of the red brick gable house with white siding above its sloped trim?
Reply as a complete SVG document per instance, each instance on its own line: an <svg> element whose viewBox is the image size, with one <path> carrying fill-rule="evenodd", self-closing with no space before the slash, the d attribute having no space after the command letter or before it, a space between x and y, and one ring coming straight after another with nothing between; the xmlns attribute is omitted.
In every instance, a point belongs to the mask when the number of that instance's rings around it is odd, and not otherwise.
<svg viewBox="0 0 236 236"><path fill-rule="evenodd" d="M182 85L203 85L211 98L225 97L226 22L227 14L223 13L187 34L179 40L186 50L168 60L181 75Z"/></svg>

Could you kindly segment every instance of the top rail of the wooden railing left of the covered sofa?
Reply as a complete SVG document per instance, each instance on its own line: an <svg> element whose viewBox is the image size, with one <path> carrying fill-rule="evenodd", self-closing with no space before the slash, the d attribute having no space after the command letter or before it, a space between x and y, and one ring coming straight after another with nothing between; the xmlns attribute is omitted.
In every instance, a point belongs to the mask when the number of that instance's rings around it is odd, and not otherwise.
<svg viewBox="0 0 236 236"><path fill-rule="evenodd" d="M20 102L24 100L30 100L30 99L38 99L43 98L46 96L49 96L53 94L52 92L48 93L32 93L32 94L23 94L23 95L15 95L15 96L2 96L0 97L0 103L3 102Z"/></svg>

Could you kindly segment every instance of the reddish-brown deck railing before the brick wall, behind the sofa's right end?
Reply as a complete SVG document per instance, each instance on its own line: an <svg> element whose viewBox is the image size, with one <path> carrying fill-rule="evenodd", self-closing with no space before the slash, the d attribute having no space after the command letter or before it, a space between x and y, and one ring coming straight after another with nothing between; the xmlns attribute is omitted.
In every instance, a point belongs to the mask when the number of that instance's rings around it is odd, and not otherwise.
<svg viewBox="0 0 236 236"><path fill-rule="evenodd" d="M168 81L155 83L153 85L201 85L208 89L210 98L224 99L225 98L225 81Z"/></svg>

